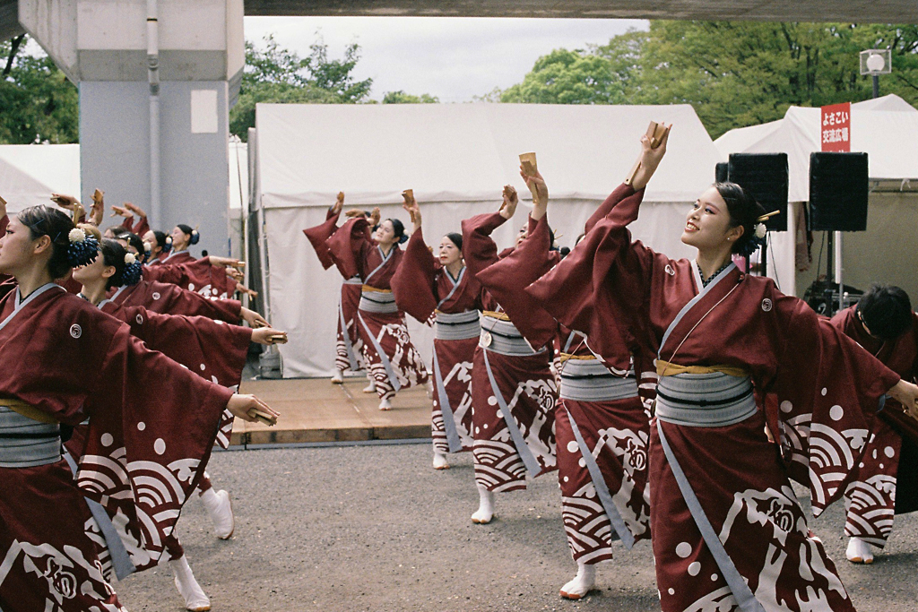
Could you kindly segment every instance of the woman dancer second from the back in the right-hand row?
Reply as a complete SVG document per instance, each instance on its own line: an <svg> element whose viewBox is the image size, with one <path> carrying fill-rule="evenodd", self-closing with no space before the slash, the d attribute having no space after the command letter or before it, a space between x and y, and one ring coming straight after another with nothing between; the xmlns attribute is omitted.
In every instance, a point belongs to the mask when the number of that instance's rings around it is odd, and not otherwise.
<svg viewBox="0 0 918 612"><path fill-rule="evenodd" d="M328 239L329 256L344 278L364 279L357 320L364 355L379 395L379 409L403 388L428 381L427 366L411 344L405 314L398 310L390 282L402 260L398 248L407 240L398 219L386 219L370 237L366 217L349 219Z"/></svg>

